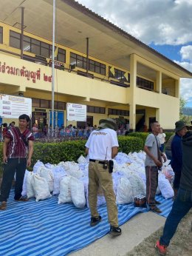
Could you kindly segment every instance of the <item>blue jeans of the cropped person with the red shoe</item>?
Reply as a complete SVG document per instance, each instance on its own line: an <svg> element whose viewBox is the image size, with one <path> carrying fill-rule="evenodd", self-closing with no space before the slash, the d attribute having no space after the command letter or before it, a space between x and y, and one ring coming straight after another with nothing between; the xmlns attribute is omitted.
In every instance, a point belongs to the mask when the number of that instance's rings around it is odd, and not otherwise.
<svg viewBox="0 0 192 256"><path fill-rule="evenodd" d="M176 200L174 201L171 212L165 221L160 244L168 246L171 238L173 238L176 228L183 217L189 212L192 207L192 191L179 189Z"/></svg>

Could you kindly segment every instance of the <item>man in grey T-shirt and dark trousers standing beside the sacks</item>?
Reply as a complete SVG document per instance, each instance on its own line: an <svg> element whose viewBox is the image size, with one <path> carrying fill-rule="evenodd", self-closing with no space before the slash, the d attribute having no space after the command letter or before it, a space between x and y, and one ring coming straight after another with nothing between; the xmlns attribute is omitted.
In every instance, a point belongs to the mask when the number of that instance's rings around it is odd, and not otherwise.
<svg viewBox="0 0 192 256"><path fill-rule="evenodd" d="M148 208L152 212L161 213L161 210L156 206L160 203L155 200L155 194L158 185L158 169L162 167L162 158L166 161L166 157L162 152L160 152L160 141L157 137L160 133L160 124L157 121L151 123L151 130L152 132L146 138L143 149L146 153L146 200Z"/></svg>

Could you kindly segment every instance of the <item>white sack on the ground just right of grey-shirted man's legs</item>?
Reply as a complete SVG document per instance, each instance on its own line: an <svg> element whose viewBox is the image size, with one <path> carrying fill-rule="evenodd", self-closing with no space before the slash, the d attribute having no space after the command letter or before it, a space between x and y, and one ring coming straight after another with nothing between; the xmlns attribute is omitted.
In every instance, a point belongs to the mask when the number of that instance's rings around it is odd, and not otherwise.
<svg viewBox="0 0 192 256"><path fill-rule="evenodd" d="M163 173L160 173L158 176L158 186L165 199L174 197L174 189Z"/></svg>

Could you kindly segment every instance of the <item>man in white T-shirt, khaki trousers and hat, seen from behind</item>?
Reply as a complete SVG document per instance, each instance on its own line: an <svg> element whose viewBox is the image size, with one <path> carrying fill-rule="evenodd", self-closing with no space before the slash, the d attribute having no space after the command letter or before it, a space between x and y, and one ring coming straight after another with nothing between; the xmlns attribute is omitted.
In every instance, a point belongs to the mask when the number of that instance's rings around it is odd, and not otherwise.
<svg viewBox="0 0 192 256"><path fill-rule="evenodd" d="M112 173L109 173L109 161L117 155L117 124L112 118L101 119L99 128L92 131L86 142L86 154L89 155L89 207L91 226L97 225L101 216L97 212L97 192L103 189L106 198L110 234L120 235L118 212L113 190Z"/></svg>

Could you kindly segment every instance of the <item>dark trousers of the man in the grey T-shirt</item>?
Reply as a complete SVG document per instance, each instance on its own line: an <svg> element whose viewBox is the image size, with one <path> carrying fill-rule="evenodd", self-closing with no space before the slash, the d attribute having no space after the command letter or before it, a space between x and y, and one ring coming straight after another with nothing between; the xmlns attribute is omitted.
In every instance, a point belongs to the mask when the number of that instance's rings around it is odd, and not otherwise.
<svg viewBox="0 0 192 256"><path fill-rule="evenodd" d="M155 194L158 186L157 166L145 166L146 174L146 200L149 206L155 205Z"/></svg>

